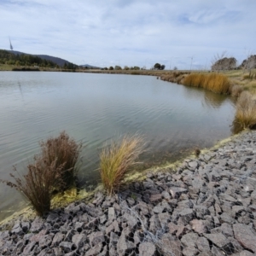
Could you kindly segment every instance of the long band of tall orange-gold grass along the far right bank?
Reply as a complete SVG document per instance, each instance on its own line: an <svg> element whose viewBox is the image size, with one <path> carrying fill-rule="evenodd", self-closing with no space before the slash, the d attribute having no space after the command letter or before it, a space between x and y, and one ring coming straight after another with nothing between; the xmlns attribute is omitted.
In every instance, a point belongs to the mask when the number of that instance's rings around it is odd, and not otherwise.
<svg viewBox="0 0 256 256"><path fill-rule="evenodd" d="M219 94L230 94L230 81L220 73L190 73L183 79L187 86L201 87Z"/></svg>

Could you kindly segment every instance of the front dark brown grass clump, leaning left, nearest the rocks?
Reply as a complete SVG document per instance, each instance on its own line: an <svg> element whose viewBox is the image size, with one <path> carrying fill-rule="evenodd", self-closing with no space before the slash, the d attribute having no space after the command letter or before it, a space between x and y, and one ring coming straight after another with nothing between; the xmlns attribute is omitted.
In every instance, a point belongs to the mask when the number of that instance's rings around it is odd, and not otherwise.
<svg viewBox="0 0 256 256"><path fill-rule="evenodd" d="M50 199L55 186L61 182L60 174L63 165L57 166L56 160L47 164L42 157L35 156L34 163L27 166L28 172L23 177L15 177L15 183L0 180L9 187L15 188L24 195L38 213L42 216L50 210ZM16 168L14 167L16 172Z"/></svg>

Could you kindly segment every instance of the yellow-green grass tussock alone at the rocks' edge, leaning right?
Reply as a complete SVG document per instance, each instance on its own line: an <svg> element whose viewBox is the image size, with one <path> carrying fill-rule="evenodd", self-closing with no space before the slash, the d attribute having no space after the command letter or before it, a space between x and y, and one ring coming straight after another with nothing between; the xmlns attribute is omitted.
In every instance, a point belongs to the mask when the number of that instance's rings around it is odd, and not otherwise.
<svg viewBox="0 0 256 256"><path fill-rule="evenodd" d="M100 154L100 174L104 188L110 195L124 184L125 175L143 152L143 138L125 136L120 143L112 143Z"/></svg>

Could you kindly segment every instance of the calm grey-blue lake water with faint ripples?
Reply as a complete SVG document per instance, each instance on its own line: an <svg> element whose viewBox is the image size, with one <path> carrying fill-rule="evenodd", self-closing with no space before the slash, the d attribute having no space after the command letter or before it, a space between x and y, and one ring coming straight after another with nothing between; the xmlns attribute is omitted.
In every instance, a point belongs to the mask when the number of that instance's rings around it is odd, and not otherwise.
<svg viewBox="0 0 256 256"><path fill-rule="evenodd" d="M0 73L0 178L24 173L38 142L65 130L86 147L80 183L99 180L98 154L124 134L146 137L141 168L172 161L230 136L234 105L226 96L155 77L90 73ZM22 207L0 183L0 219Z"/></svg>

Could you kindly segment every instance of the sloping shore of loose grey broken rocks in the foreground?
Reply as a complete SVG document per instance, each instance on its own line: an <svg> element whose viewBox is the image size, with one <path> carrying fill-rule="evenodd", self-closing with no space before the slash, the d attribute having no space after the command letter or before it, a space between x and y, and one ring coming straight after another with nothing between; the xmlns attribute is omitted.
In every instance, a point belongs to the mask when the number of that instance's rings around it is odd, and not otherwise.
<svg viewBox="0 0 256 256"><path fill-rule="evenodd" d="M0 226L1 255L256 255L256 132L176 172L148 173L31 221Z"/></svg>

